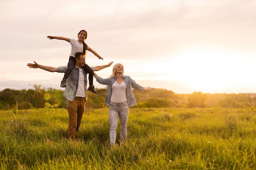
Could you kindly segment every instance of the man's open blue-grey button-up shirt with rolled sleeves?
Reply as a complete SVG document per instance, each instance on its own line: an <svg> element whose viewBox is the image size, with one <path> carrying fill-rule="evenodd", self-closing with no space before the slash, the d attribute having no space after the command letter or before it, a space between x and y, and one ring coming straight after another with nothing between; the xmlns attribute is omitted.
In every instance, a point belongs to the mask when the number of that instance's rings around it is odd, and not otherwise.
<svg viewBox="0 0 256 170"><path fill-rule="evenodd" d="M91 68L93 71L95 71L94 67L91 67ZM67 66L58 67L58 73L65 73L65 71L67 71ZM83 77L84 77L84 86L85 86L85 99L87 101L87 90L86 90L87 73L84 70L83 70ZM65 88L65 91L63 93L63 96L71 102L74 101L77 87L78 87L78 81L79 81L79 68L75 65L75 68L70 73L70 75L67 77L67 81L66 81L67 87Z"/></svg>

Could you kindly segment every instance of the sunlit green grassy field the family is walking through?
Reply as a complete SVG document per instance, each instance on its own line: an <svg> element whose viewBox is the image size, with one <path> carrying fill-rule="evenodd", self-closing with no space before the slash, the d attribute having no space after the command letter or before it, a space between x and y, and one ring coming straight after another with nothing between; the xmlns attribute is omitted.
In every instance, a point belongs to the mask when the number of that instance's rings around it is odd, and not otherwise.
<svg viewBox="0 0 256 170"><path fill-rule="evenodd" d="M130 108L128 139L114 148L108 108L85 112L76 141L67 140L65 109L0 115L0 170L256 169L249 109Z"/></svg>

